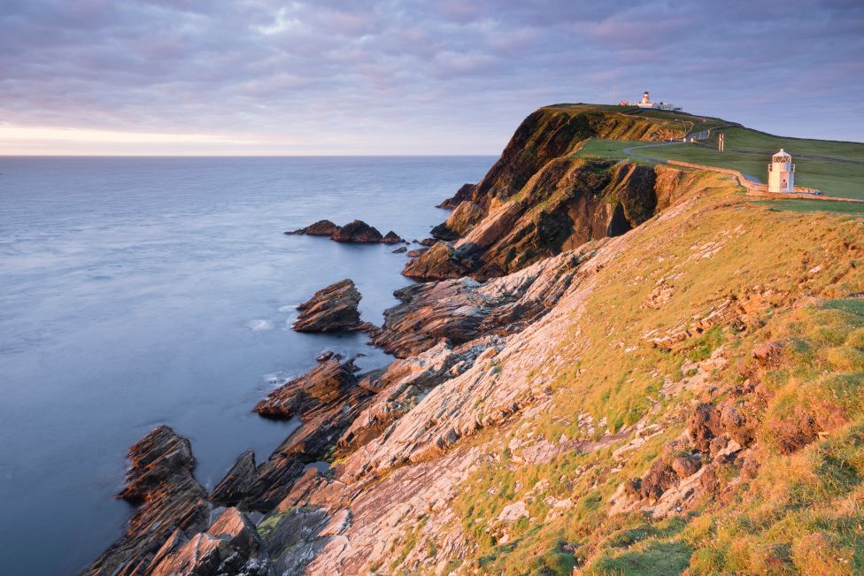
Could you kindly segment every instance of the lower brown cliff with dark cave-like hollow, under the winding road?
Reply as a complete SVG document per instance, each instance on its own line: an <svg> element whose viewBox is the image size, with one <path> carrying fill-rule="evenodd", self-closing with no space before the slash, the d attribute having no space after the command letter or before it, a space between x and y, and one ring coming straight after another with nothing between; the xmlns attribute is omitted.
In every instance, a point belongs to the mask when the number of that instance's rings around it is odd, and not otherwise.
<svg viewBox="0 0 864 576"><path fill-rule="evenodd" d="M439 235L467 234L439 242L405 265L418 280L470 275L478 280L513 273L585 242L624 234L652 217L659 204L651 166L610 160L557 158L489 215L470 226L437 227ZM476 204L474 204L476 205ZM469 204L460 204L466 211ZM472 212L472 219L478 214ZM448 219L448 222L451 220ZM472 220L474 221L474 220ZM461 224L461 222L460 222Z"/></svg>

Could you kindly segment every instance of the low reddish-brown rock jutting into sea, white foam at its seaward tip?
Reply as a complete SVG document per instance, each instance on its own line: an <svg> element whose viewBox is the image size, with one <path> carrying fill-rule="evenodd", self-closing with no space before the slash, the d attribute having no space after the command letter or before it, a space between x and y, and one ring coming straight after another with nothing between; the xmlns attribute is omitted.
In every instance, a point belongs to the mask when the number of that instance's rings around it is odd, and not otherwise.
<svg viewBox="0 0 864 576"><path fill-rule="evenodd" d="M357 384L353 362L343 364L340 360L338 355L329 357L299 378L276 388L255 406L255 411L270 418L288 419L338 401L347 388Z"/></svg>

